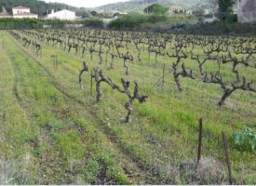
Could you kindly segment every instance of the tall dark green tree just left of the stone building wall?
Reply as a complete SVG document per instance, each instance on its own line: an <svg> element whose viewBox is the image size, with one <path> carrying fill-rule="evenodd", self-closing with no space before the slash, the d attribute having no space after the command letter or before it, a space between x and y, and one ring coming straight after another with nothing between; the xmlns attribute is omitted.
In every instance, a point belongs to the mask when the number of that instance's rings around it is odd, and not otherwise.
<svg viewBox="0 0 256 186"><path fill-rule="evenodd" d="M229 16L233 15L235 3L236 0L218 0L220 20L226 20Z"/></svg>

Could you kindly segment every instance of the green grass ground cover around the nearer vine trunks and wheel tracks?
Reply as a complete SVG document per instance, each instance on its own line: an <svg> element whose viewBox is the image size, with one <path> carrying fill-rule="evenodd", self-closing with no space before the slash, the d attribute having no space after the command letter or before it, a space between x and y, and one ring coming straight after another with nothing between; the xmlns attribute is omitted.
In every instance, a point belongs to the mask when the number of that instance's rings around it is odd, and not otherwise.
<svg viewBox="0 0 256 186"><path fill-rule="evenodd" d="M255 183L255 154L239 152L232 139L233 131L242 126L255 127L255 94L237 91L220 108L219 86L182 79L184 90L180 93L169 75L164 90L155 86L146 103L133 105L133 122L126 124L124 95L102 86L103 99L95 104L95 98L89 96L89 73L83 76L85 89L79 89L82 59L74 52L43 45L43 57L36 59L7 32L0 33L0 41L5 44L0 46L0 84L4 87L0 90L4 136L0 157L4 158L0 160L22 159L30 153L34 165L28 170L33 178L18 178L14 183L189 183L182 178L170 180L173 175L167 170L179 167L185 159L195 159L200 117L204 118L203 156L214 157L224 165L224 130L236 182ZM195 52L202 53L200 48ZM50 58L55 54L60 63L58 71L52 68ZM87 53L86 60L90 69L99 66L96 55L91 61ZM164 62L168 65L171 61L161 57L155 63L153 55L148 61L145 52L141 62L128 64L128 76L119 60L115 70L108 70L105 62L101 69L119 85L120 77L136 80L141 93L147 93L161 76ZM195 62L187 63L187 67L195 68ZM216 67L209 63L205 68L214 71ZM222 69L226 80L234 75L229 69ZM253 71L243 71L249 78L256 78ZM20 99L13 92L15 82Z"/></svg>

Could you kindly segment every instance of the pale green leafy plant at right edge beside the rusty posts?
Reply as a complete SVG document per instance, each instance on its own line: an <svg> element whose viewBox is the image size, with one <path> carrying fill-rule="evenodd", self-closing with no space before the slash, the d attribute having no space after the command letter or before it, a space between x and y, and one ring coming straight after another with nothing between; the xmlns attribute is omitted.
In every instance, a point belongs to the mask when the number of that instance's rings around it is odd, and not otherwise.
<svg viewBox="0 0 256 186"><path fill-rule="evenodd" d="M256 146L256 131L244 126L242 131L234 132L234 139L239 150L253 152Z"/></svg>

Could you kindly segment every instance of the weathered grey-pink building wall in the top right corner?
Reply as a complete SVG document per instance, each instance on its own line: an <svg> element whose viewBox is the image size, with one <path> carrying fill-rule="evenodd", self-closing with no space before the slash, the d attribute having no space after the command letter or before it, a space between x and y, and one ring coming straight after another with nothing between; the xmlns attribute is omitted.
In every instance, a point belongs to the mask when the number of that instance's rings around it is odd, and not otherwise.
<svg viewBox="0 0 256 186"><path fill-rule="evenodd" d="M239 22L256 21L256 0L238 0L237 18Z"/></svg>

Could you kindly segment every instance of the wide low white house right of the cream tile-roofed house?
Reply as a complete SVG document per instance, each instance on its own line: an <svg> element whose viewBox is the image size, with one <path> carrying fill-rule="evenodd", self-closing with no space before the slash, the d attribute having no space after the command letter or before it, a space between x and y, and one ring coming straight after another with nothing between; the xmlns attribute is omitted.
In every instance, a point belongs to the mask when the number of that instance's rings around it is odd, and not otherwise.
<svg viewBox="0 0 256 186"><path fill-rule="evenodd" d="M61 11L54 12L54 10L51 11L51 14L48 14L46 19L50 20L75 20L77 17L75 16L75 12L68 10L68 9L62 9Z"/></svg>

